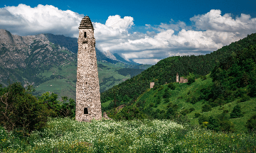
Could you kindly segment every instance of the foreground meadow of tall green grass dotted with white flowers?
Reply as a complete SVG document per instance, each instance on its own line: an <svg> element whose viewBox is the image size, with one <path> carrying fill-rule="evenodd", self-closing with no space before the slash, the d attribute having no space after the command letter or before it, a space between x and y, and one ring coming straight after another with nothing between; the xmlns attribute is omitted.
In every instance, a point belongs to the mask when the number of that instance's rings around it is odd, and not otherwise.
<svg viewBox="0 0 256 153"><path fill-rule="evenodd" d="M30 137L0 129L1 152L256 152L255 134L213 132L171 120L51 118Z"/></svg>

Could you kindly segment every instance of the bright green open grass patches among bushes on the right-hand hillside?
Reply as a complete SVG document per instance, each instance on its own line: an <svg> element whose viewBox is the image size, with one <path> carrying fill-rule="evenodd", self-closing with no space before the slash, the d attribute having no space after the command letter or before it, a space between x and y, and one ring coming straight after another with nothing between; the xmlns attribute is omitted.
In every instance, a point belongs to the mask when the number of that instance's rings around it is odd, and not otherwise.
<svg viewBox="0 0 256 153"><path fill-rule="evenodd" d="M157 105L157 107L153 107L153 111L156 111L156 109L159 110L167 110L167 106L169 103L164 103L164 98L162 96L164 95L164 90L168 89L171 93L171 97L169 98L170 103L177 104L178 105L178 112L183 111L184 109L189 108L195 108L195 111L192 111L191 113L186 114L188 119L191 120L192 125L198 125L198 118L194 118L195 113L201 113L201 115L218 115L220 113L223 113L223 109L228 110L230 113L233 111L233 108L239 104L241 106L241 111L244 113L243 117L241 118L230 118L230 121L234 124L234 130L235 132L247 132L247 128L245 128L245 124L247 120L256 113L256 111L253 111L256 108L256 98L250 98L250 101L245 101L242 103L238 103L238 99L235 99L235 101L227 103L223 106L217 106L215 108L212 108L212 111L203 112L202 113L202 106L204 103L206 103L205 100L197 101L195 104L188 103L186 100L191 97L198 97L198 95L201 94L201 89L207 88L208 86L212 86L213 82L210 78L210 74L206 75L206 80L197 79L193 84L188 85L185 84L179 84L177 82L174 83L176 86L175 90L171 90L168 88L168 84L162 85L159 87L159 89L147 89L144 94L140 95L139 98L137 98L137 101L133 103L135 106L139 101L145 101L145 106L149 107L150 103L156 103L156 99L158 96L161 97L161 103ZM109 103L105 103L104 106L107 106ZM221 109L220 109L221 108Z"/></svg>

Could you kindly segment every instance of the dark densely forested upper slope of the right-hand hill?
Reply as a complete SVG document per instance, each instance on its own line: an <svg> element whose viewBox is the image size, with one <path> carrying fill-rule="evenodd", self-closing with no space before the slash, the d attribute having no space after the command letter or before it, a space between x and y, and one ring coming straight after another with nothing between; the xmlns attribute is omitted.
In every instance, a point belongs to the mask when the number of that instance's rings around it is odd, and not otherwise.
<svg viewBox="0 0 256 153"><path fill-rule="evenodd" d="M247 38L239 40L238 42L232 42L228 46L224 46L215 52L211 52L208 55L199 55L199 56L183 56L183 57L168 57L164 60L159 61L154 66L146 69L141 74L137 75L136 77L132 77L131 79L127 79L126 81L122 82L121 84L114 86L112 89L109 89L101 94L101 101L102 103L110 103L110 105L103 105L105 108L104 110L110 110L114 106L120 106L124 103L128 103L129 101L135 101L137 97L142 94L146 89L149 89L149 83L151 81L155 82L155 86L159 86L166 83L171 83L176 81L176 73L178 72L179 77L186 77L189 73L193 73L196 77L205 76L209 74L214 67L218 64L218 67L215 68L213 75L216 77L220 73L218 70L225 69L227 70L229 67L232 69L243 69L243 66L236 67L234 64L235 61L232 61L233 58L240 59L240 55L243 56L243 60L245 58L250 57L251 52L255 52L253 50L253 46L256 43L256 34L253 33L251 35L247 35ZM252 49L250 49L252 48ZM242 53L242 51L247 51L246 53ZM247 60L247 62L252 63L253 60ZM245 62L245 61L244 61ZM245 64L241 62L241 64ZM234 64L234 65L233 65ZM220 65L220 66L219 66ZM252 65L253 66L253 65ZM247 65L247 70L251 71L252 67ZM230 74L234 74L235 70L231 70ZM240 82L239 84L249 84L248 77L245 73L239 73L239 75L244 75L244 81ZM223 74L227 79L227 74ZM214 81L217 79L224 79L222 78L215 78L213 76ZM235 75L235 74L234 74ZM252 74L250 74L252 76ZM234 76L235 77L235 76ZM242 79L242 76L238 80ZM235 79L228 79L228 84L232 84ZM223 80L224 81L224 80ZM226 82L226 81L225 81ZM250 79L250 84L252 84L253 79ZM228 86L228 85L226 85ZM236 86L236 85L235 85ZM244 85L243 85L244 86ZM250 85L251 88L254 88ZM238 86L239 88L240 86ZM114 101L115 99L115 101ZM132 100L133 99L133 100Z"/></svg>

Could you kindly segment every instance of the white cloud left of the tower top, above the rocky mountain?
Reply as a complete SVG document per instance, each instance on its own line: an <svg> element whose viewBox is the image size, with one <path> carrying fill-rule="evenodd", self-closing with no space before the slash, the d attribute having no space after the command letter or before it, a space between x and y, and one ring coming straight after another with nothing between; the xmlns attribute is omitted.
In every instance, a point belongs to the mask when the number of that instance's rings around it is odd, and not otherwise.
<svg viewBox="0 0 256 153"><path fill-rule="evenodd" d="M82 17L73 11L62 11L51 5L39 4L31 8L19 4L0 8L0 27L17 35L54 33L77 37Z"/></svg>

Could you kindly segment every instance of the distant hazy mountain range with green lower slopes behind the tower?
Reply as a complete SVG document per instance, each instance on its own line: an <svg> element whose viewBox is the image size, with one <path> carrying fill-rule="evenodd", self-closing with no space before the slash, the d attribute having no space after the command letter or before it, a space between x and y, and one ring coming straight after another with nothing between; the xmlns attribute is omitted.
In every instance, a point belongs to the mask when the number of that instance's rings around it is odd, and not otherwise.
<svg viewBox="0 0 256 153"><path fill-rule="evenodd" d="M20 81L24 86L33 84L36 94L51 91L75 98L77 52L78 38L50 33L19 36L0 29L0 84ZM151 67L120 56L115 60L110 52L97 48L96 57L101 92ZM129 74L124 76L122 69L128 69Z"/></svg>

